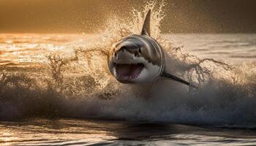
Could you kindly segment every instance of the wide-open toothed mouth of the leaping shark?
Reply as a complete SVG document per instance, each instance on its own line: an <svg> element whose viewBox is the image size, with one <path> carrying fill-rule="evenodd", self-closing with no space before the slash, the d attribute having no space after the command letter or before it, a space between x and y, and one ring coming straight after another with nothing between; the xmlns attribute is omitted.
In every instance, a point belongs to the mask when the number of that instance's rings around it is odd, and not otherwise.
<svg viewBox="0 0 256 146"><path fill-rule="evenodd" d="M116 64L114 63L116 69L116 77L118 80L134 80L140 76L140 73L144 69L143 64Z"/></svg>

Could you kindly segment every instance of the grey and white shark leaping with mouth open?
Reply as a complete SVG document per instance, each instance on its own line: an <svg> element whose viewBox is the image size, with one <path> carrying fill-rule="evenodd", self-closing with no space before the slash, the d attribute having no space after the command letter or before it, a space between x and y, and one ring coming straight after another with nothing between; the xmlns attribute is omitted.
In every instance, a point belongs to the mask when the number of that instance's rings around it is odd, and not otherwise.
<svg viewBox="0 0 256 146"><path fill-rule="evenodd" d="M108 68L119 82L153 82L159 78L175 80L193 88L195 85L170 74L165 54L157 40L150 37L151 10L148 11L140 35L132 34L113 45L108 57Z"/></svg>

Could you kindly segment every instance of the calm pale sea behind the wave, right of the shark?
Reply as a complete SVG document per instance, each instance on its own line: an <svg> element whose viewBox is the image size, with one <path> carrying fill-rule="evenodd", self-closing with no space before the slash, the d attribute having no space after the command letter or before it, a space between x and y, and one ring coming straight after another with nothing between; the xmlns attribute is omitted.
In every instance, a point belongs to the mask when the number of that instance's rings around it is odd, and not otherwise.
<svg viewBox="0 0 256 146"><path fill-rule="evenodd" d="M255 61L255 34L173 34L173 45L201 58L215 58L228 64Z"/></svg>

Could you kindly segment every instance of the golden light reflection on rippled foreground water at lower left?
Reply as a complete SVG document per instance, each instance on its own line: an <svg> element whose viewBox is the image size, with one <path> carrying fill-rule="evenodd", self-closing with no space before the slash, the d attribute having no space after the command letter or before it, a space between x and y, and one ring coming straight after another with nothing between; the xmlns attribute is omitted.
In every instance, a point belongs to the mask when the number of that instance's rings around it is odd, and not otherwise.
<svg viewBox="0 0 256 146"><path fill-rule="evenodd" d="M69 123L72 122L72 123ZM70 126L70 124L75 124ZM100 124L80 120L37 120L34 123L21 123L18 126L0 126L0 145L33 145L37 142L103 142L116 139L110 131L103 130ZM84 140L83 140L84 139Z"/></svg>

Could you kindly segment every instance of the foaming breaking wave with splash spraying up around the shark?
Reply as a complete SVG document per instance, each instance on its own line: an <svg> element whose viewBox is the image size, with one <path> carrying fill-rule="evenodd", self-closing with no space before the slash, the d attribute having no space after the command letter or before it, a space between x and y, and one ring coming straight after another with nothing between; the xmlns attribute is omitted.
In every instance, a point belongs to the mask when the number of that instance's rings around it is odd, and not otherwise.
<svg viewBox="0 0 256 146"><path fill-rule="evenodd" d="M256 126L256 65L230 66L173 47L159 29L164 6L151 1L141 12L133 9L132 18L113 16L91 44L74 42L72 55L50 54L47 64L31 66L29 72L2 66L0 119L104 118ZM152 37L183 69L178 74L199 85L197 90L170 80L124 85L110 76L108 49L122 37L139 34L148 9L153 9Z"/></svg>

